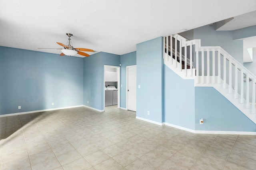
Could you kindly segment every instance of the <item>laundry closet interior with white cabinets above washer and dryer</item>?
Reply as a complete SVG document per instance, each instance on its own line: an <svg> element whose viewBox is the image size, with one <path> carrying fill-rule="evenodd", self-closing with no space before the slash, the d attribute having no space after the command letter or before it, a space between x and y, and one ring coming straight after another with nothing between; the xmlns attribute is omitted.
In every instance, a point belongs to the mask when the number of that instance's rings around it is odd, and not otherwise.
<svg viewBox="0 0 256 170"><path fill-rule="evenodd" d="M118 75L116 68L105 69L105 106L118 104Z"/></svg>

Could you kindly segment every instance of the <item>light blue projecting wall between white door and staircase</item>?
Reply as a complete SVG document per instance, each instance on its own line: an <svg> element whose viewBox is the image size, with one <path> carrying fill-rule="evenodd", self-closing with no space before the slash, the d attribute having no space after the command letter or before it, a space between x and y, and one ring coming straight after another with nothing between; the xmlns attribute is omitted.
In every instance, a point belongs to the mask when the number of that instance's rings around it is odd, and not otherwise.
<svg viewBox="0 0 256 170"><path fill-rule="evenodd" d="M136 116L162 123L164 119L164 61L162 37L137 44ZM140 89L138 89L140 85ZM150 111L150 115L147 112Z"/></svg>

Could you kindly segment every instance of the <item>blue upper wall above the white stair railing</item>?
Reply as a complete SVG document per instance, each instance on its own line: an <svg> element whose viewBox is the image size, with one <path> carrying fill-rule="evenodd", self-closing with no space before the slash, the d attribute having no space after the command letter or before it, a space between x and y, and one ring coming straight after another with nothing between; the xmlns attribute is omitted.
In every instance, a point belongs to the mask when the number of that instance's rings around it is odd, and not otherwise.
<svg viewBox="0 0 256 170"><path fill-rule="evenodd" d="M232 31L215 31L206 25L194 29L194 39L201 39L202 46L220 46L238 62L243 64L243 41L233 40Z"/></svg>

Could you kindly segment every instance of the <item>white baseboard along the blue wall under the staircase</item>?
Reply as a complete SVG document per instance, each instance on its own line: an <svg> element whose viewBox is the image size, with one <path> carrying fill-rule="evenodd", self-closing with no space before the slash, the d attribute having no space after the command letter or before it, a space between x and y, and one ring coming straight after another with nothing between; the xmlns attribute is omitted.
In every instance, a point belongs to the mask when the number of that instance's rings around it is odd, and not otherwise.
<svg viewBox="0 0 256 170"><path fill-rule="evenodd" d="M181 130L185 130L188 132L196 133L196 134L243 134L243 135L256 135L256 132L243 132L243 131L214 131L214 130L192 130L189 128L180 127L177 125L172 125L170 123L164 122L163 125L178 128Z"/></svg>

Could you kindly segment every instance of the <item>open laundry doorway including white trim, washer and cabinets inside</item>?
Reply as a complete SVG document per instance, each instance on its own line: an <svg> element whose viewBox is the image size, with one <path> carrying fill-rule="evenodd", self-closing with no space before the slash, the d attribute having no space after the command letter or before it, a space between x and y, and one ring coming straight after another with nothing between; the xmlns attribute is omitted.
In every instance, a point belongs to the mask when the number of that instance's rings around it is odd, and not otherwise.
<svg viewBox="0 0 256 170"><path fill-rule="evenodd" d="M105 106L120 109L120 66L104 65L104 111Z"/></svg>

